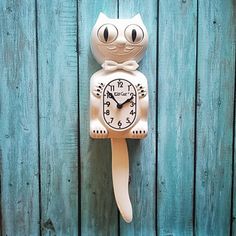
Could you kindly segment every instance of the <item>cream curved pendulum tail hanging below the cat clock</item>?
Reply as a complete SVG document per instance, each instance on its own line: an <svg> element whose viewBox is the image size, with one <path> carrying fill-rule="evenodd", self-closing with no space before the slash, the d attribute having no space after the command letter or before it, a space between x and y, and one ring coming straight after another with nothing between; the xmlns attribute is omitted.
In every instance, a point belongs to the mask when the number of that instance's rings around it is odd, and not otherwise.
<svg viewBox="0 0 236 236"><path fill-rule="evenodd" d="M123 219L130 223L133 218L129 198L129 155L125 139L111 139L112 180L117 206Z"/></svg>

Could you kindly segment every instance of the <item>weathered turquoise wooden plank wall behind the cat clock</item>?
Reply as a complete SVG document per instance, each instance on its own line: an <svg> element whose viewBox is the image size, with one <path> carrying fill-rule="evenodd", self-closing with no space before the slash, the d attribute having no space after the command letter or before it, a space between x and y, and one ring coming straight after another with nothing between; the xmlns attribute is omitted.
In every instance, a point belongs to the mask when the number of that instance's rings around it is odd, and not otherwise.
<svg viewBox="0 0 236 236"><path fill-rule="evenodd" d="M140 13L149 135L129 140L134 220L89 138L89 36ZM0 234L236 235L235 0L0 0Z"/></svg>

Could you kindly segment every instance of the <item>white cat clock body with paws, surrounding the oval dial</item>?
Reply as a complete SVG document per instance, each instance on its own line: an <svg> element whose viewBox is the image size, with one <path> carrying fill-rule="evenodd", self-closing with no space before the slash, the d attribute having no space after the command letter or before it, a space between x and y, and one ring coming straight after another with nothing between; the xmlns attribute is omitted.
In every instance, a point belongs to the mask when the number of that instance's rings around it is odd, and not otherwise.
<svg viewBox="0 0 236 236"><path fill-rule="evenodd" d="M109 72L105 70L99 70L90 80L90 136L92 138L115 138L117 137L117 131L111 129L103 119L103 88L108 82L116 78L125 78L136 85L137 94L137 116L128 129L119 131L120 138L144 138L147 135L147 112L148 112L148 96L147 96L147 79L139 71L127 72L124 70L117 70ZM100 90L99 92L97 90ZM141 92L142 91L142 92ZM144 96L142 96L144 94ZM122 101L122 97L120 98ZM118 100L118 98L117 98Z"/></svg>

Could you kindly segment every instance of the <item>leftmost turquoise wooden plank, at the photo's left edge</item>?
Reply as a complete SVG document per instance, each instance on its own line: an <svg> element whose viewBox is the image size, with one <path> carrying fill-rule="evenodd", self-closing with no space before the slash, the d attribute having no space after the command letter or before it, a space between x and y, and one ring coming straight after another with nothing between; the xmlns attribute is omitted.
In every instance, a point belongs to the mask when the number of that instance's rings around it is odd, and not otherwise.
<svg viewBox="0 0 236 236"><path fill-rule="evenodd" d="M39 234L34 1L0 1L2 235Z"/></svg>

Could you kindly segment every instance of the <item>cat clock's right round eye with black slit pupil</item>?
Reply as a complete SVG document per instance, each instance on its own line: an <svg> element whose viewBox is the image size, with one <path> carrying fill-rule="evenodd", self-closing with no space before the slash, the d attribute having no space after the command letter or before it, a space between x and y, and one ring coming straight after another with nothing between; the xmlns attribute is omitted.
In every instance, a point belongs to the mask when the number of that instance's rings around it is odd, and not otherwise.
<svg viewBox="0 0 236 236"><path fill-rule="evenodd" d="M143 30L138 25L129 25L125 29L125 37L130 43L139 43L143 40Z"/></svg>

